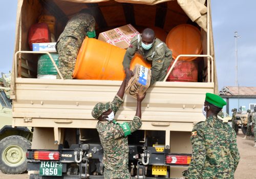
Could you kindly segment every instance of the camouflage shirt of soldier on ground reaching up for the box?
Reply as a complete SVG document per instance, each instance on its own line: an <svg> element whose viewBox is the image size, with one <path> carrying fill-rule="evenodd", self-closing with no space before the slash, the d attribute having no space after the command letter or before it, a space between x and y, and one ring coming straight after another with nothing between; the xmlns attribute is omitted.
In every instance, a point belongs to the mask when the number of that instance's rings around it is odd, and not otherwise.
<svg viewBox="0 0 256 179"><path fill-rule="evenodd" d="M119 109L122 100L116 95L111 102L114 113ZM111 107L112 108L112 107ZM141 126L141 119L137 116L133 121L127 122L131 132L138 130ZM106 170L112 172L111 178L130 178L128 168L128 140L124 137L124 131L113 121L98 121L97 130L99 132L100 143L103 147L103 164Z"/></svg>

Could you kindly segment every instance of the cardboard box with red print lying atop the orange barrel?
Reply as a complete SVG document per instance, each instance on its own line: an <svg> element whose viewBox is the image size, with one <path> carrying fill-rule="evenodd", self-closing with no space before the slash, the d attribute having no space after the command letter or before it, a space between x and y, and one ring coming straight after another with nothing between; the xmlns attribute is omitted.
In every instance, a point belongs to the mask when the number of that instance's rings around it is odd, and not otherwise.
<svg viewBox="0 0 256 179"><path fill-rule="evenodd" d="M131 24L105 31L99 34L98 40L113 44L122 49L130 46L131 39L140 34Z"/></svg>

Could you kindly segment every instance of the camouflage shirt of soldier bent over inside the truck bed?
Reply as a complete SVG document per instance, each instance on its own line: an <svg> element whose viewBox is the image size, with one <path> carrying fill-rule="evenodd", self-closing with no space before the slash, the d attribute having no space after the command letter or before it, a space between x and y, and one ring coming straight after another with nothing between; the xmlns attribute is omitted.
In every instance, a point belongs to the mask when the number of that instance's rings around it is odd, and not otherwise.
<svg viewBox="0 0 256 179"><path fill-rule="evenodd" d="M72 36L78 41L78 44L82 44L84 38L86 38L87 32L95 30L95 19L92 15L87 13L79 13L74 15L67 23L64 31L60 34L58 41L62 37Z"/></svg>

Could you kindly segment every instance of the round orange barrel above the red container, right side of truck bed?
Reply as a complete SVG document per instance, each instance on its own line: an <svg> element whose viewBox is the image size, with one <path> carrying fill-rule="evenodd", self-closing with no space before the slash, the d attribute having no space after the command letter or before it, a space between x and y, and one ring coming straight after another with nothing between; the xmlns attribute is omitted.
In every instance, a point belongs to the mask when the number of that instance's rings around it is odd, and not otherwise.
<svg viewBox="0 0 256 179"><path fill-rule="evenodd" d="M167 47L172 50L173 58L178 55L200 55L203 51L200 31L192 25L176 26L167 35ZM180 60L194 60L197 57L181 57Z"/></svg>

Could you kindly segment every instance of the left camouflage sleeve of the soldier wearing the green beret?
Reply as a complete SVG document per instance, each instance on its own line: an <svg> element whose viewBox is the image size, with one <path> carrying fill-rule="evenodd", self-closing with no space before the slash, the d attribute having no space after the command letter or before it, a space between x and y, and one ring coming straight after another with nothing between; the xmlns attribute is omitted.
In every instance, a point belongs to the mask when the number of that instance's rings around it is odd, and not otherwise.
<svg viewBox="0 0 256 179"><path fill-rule="evenodd" d="M199 178L206 159L206 149L203 134L197 129L197 127L193 129L190 140L193 146L193 154L185 177L189 179L196 179Z"/></svg>

